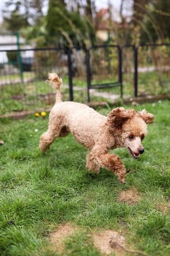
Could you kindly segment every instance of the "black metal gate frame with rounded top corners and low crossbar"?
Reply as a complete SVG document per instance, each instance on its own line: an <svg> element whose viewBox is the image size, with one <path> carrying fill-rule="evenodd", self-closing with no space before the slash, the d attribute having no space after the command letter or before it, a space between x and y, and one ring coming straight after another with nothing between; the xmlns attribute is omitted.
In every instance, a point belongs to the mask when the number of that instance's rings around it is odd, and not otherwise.
<svg viewBox="0 0 170 256"><path fill-rule="evenodd" d="M96 62L94 57L98 51L99 60L96 71L96 79L92 75L93 63ZM90 57L91 56L91 57ZM104 65L106 59L107 65ZM114 61L115 66L114 67ZM100 68L104 65L104 67ZM122 88L122 49L118 45L109 46L92 46L86 50L86 67L87 67L87 85L88 101L90 101L90 89L103 89L109 87L120 87L120 97L123 96ZM93 80L93 81L92 81ZM94 81L95 80L95 81Z"/></svg>

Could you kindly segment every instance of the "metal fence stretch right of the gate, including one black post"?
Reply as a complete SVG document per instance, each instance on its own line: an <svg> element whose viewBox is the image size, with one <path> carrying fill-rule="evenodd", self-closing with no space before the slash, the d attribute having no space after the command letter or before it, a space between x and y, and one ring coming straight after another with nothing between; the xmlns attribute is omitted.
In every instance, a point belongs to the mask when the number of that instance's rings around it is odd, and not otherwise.
<svg viewBox="0 0 170 256"><path fill-rule="evenodd" d="M170 89L170 44L124 45L122 75L124 94L146 96Z"/></svg>

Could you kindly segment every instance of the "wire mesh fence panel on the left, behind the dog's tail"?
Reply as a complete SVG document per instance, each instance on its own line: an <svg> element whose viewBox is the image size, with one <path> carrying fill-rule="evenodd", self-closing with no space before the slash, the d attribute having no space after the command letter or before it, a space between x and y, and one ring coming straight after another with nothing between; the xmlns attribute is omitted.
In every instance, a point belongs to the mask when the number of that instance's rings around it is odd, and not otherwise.
<svg viewBox="0 0 170 256"><path fill-rule="evenodd" d="M46 83L48 72L58 73L68 85L64 49L8 50L1 51L1 56L3 60L8 57L7 62L1 62L0 68L1 114L29 109L36 111L39 107L54 104L55 90ZM69 100L68 86L63 86L63 96Z"/></svg>

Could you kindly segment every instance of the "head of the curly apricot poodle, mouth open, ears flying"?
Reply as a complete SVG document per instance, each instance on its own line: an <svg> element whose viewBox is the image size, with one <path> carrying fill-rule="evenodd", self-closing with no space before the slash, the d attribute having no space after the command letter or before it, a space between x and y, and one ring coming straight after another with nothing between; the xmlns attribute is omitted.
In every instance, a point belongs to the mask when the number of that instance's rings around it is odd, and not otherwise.
<svg viewBox="0 0 170 256"><path fill-rule="evenodd" d="M123 107L112 109L108 114L107 125L111 133L120 134L116 141L120 145L129 149L133 158L139 158L139 154L144 152L142 140L147 134L147 124L153 123L154 116L145 109L135 111L134 109L124 109ZM116 130L119 133L116 133Z"/></svg>

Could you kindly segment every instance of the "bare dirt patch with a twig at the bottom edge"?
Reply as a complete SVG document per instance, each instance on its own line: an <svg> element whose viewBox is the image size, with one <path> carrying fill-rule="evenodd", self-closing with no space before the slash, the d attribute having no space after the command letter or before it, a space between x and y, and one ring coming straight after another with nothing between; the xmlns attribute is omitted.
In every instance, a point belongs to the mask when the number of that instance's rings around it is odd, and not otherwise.
<svg viewBox="0 0 170 256"><path fill-rule="evenodd" d="M93 234L93 244L100 251L101 254L122 255L125 246L124 236L119 235L118 232L108 230Z"/></svg>

